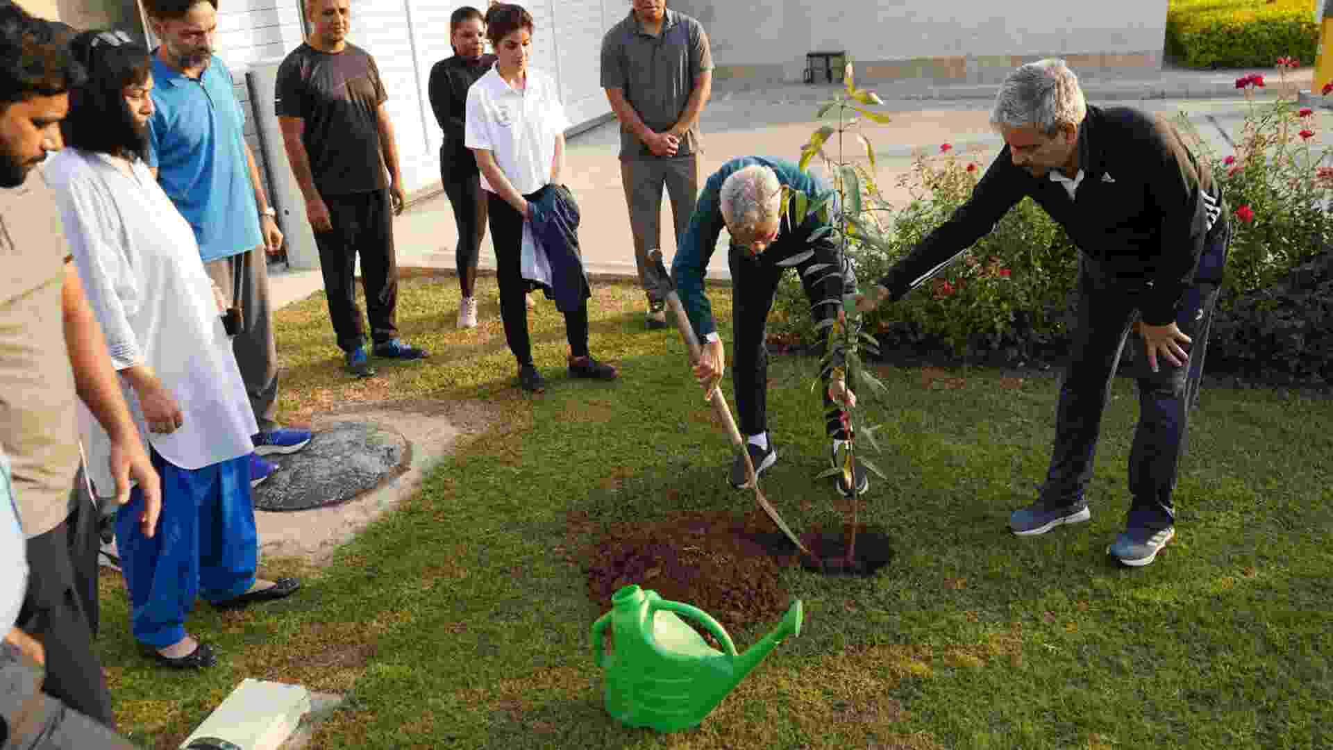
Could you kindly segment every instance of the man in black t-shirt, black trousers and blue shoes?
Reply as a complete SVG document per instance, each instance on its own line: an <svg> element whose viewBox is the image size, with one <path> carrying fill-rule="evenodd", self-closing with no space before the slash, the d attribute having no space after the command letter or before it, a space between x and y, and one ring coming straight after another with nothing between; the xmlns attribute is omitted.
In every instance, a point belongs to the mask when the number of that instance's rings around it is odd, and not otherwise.
<svg viewBox="0 0 1333 750"><path fill-rule="evenodd" d="M277 69L275 109L319 246L333 332L348 370L364 378L375 370L356 306L357 255L375 356L427 352L399 339L393 216L403 212L403 172L380 69L347 41L348 3L305 0L312 32Z"/></svg>

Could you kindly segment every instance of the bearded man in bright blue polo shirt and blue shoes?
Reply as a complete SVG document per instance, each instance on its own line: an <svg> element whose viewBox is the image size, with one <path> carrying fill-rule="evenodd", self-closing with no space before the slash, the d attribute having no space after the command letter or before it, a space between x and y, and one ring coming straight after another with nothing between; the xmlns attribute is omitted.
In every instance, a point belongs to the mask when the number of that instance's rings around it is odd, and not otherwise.
<svg viewBox="0 0 1333 750"><path fill-rule="evenodd" d="M245 143L245 112L227 64L212 53L216 0L147 0L153 32L153 104L148 164L163 190L195 228L204 267L228 303L240 308L236 363L260 432L259 455L305 447L305 430L280 428L277 348L268 303L268 262L283 247L275 211ZM255 476L272 466L256 459Z"/></svg>

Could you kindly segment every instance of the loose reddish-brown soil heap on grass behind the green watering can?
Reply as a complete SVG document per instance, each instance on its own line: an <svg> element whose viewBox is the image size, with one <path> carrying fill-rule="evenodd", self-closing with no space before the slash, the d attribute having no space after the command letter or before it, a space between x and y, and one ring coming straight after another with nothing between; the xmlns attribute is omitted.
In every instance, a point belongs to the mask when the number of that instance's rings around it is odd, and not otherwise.
<svg viewBox="0 0 1333 750"><path fill-rule="evenodd" d="M792 602L780 577L796 555L781 550L773 522L760 512L694 511L601 528L571 518L571 526L591 532L581 563L588 597L604 611L617 590L637 583L738 631L773 626Z"/></svg>

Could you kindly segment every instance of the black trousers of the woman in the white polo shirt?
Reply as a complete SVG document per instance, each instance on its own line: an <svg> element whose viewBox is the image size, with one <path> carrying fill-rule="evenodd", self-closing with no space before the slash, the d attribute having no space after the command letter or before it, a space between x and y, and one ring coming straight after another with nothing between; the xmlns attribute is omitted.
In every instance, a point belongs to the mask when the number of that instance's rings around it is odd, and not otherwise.
<svg viewBox="0 0 1333 750"><path fill-rule="evenodd" d="M525 195L536 202L544 191ZM500 284L500 318L504 338L519 366L532 364L532 340L528 338L528 303L531 287L523 278L523 215L493 192L487 192L491 211L491 243L496 248L496 282ZM588 300L579 310L565 312L565 339L575 356L588 356Z"/></svg>

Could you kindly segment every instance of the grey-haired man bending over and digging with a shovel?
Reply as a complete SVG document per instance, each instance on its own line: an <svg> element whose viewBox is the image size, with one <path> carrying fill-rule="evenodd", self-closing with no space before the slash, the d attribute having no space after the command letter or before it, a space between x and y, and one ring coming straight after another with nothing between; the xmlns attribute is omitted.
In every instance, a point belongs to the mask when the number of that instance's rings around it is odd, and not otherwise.
<svg viewBox="0 0 1333 750"><path fill-rule="evenodd" d="M672 260L672 278L689 316L694 334L705 342L694 376L710 392L722 375L725 352L713 324L712 304L704 294L704 274L713 255L722 227L730 235L728 263L732 271L732 327L736 408L741 432L756 472L764 472L777 460L777 448L768 435L768 350L764 346L765 327L777 283L788 268L794 268L810 300L810 315L816 323L837 316L842 295L856 291L856 275L841 250L825 232L810 242L820 228L828 226L821 219L833 211L812 211L805 222L792 227L781 219L782 187L804 192L813 206L825 192L821 181L802 172L796 164L766 156L732 159L708 177L690 216L689 230L681 238ZM794 194L793 194L794 195ZM821 347L828 342L828 327L820 328ZM845 439L842 410L845 403L856 404L856 396L842 380L830 382L832 367L821 372L825 382L825 430L832 439L830 458ZM745 458L737 455L732 464L733 487L745 484ZM869 487L865 470L857 467L854 487L848 487L840 474L834 479L838 490L850 495Z"/></svg>

